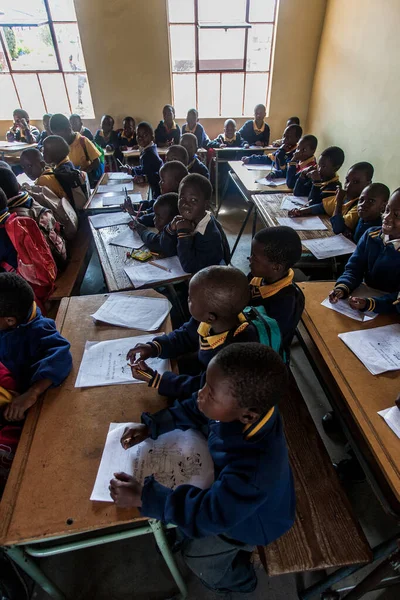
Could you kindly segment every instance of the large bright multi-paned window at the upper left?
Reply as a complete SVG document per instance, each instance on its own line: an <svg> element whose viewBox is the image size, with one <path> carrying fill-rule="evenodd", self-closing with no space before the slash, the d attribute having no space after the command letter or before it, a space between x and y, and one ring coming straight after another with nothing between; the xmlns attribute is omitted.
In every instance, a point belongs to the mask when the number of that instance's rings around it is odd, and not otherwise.
<svg viewBox="0 0 400 600"><path fill-rule="evenodd" d="M18 107L94 117L74 0L2 0L0 119Z"/></svg>

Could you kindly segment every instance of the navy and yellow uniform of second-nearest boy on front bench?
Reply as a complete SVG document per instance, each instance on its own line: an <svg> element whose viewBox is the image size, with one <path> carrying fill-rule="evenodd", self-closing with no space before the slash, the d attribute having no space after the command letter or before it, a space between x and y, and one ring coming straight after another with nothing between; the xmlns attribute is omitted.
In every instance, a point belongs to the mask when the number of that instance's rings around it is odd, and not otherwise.
<svg viewBox="0 0 400 600"><path fill-rule="evenodd" d="M177 375L167 371L160 375L154 372L148 385L158 389L162 396L170 396L178 400L189 398L198 392L205 383L207 365L210 360L228 344L234 342L259 342L260 338L253 323L249 323L241 313L238 315L239 325L230 331L213 334L211 326L199 323L191 317L179 329L167 335L153 339L150 344L160 358L178 358L185 354L197 352L197 358L202 366L199 375Z"/></svg>

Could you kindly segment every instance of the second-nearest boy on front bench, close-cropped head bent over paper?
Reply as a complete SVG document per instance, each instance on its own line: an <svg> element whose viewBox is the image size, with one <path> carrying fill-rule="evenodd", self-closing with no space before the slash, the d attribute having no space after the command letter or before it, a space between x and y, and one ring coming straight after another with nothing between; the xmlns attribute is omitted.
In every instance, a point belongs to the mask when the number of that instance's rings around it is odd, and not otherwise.
<svg viewBox="0 0 400 600"><path fill-rule="evenodd" d="M256 326L242 312L248 303L248 282L239 269L214 266L199 271L189 283L190 321L168 335L158 336L148 344L137 344L130 350L127 360L133 365L133 376L147 381L162 396L189 398L204 385L208 363L224 346L260 341ZM144 362L151 357L179 358L193 352L197 352L201 365L199 375L177 375L170 371L159 375Z"/></svg>

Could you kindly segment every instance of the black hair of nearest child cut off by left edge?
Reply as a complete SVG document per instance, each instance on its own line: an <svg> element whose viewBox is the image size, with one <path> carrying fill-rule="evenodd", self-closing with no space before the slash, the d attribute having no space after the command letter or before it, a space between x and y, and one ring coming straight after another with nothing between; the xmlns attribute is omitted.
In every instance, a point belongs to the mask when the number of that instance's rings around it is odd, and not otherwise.
<svg viewBox="0 0 400 600"><path fill-rule="evenodd" d="M0 317L24 321L32 308L34 294L29 283L16 273L0 273Z"/></svg>

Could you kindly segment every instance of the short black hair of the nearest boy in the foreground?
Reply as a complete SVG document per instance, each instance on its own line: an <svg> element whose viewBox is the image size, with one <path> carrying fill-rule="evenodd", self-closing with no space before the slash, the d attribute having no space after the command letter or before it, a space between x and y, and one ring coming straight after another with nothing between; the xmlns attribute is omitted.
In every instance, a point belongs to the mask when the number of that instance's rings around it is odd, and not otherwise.
<svg viewBox="0 0 400 600"><path fill-rule="evenodd" d="M225 346L211 361L229 380L241 408L266 414L287 394L288 370L275 350L258 342Z"/></svg>

